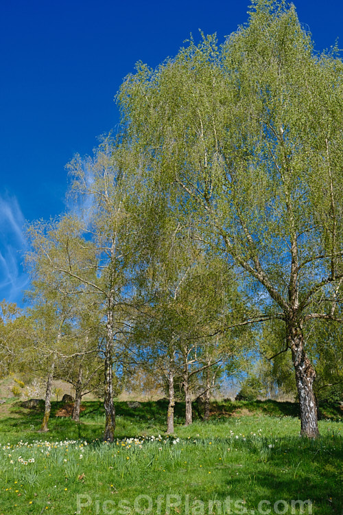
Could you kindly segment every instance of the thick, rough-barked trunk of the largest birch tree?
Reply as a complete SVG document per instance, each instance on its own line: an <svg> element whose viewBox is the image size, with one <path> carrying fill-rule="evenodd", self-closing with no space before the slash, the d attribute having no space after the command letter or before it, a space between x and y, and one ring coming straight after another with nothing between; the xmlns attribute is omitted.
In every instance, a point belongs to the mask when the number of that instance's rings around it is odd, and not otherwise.
<svg viewBox="0 0 343 515"><path fill-rule="evenodd" d="M314 395L314 379L316 371L311 365L304 350L303 329L301 323L287 325L289 347L292 350L292 360L296 371L296 388L298 390L301 435L309 438L319 436L318 412L316 397Z"/></svg>

